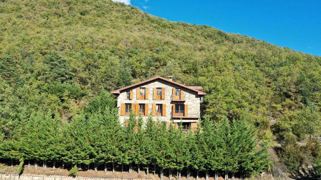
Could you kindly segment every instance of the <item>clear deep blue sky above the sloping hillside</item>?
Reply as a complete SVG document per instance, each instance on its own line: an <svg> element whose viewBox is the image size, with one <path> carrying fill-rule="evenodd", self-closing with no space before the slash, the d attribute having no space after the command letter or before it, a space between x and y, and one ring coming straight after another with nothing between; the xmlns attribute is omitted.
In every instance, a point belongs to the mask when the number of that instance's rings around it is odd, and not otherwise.
<svg viewBox="0 0 321 180"><path fill-rule="evenodd" d="M320 0L118 1L167 20L209 25L321 56Z"/></svg>

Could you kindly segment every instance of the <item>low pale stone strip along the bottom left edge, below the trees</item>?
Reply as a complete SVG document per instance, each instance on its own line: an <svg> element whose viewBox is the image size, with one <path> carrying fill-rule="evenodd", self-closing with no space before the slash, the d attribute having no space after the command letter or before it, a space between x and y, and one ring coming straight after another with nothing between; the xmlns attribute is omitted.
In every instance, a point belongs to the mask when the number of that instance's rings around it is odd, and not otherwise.
<svg viewBox="0 0 321 180"><path fill-rule="evenodd" d="M129 180L125 178L100 178L100 177L81 177L76 176L75 178L71 176L57 176L57 175L5 175L0 174L0 180ZM155 180L155 179L130 179L130 180Z"/></svg>

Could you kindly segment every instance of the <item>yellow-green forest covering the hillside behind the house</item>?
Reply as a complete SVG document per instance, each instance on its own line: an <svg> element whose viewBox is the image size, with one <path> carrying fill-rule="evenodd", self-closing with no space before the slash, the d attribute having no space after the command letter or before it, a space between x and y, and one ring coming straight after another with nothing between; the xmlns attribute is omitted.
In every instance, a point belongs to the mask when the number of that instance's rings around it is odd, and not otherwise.
<svg viewBox="0 0 321 180"><path fill-rule="evenodd" d="M256 129L255 153L276 154L267 169L274 176L298 173L305 164L320 168L321 57L209 26L170 22L108 0L3 0L0 17L4 159L30 159L14 142L41 136L34 131L36 122L47 119L46 126L57 126L54 138L91 119L96 111L85 107L102 90L172 75L204 87L202 119L215 127L226 119L233 127L233 119L242 119ZM88 124L82 125L87 130ZM3 157L5 148L12 150L10 157Z"/></svg>

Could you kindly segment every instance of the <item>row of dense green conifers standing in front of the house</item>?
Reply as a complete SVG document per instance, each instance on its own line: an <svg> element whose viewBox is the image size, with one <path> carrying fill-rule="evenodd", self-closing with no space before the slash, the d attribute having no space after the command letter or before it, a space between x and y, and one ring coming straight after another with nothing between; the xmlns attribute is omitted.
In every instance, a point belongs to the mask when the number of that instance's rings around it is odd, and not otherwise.
<svg viewBox="0 0 321 180"><path fill-rule="evenodd" d="M13 130L10 137L0 144L0 157L8 160L34 160L35 168L42 161L47 168L47 161L71 166L94 164L94 169L104 165L115 166L124 170L129 166L129 173L136 165L138 173L142 167L148 174L160 171L160 179L164 170L169 178L172 174L181 177L181 171L187 170L187 178L191 171L209 171L235 173L240 176L256 175L268 168L270 161L265 149L259 149L256 132L242 119L223 118L218 123L204 119L198 127L188 132L182 126L176 127L160 122L149 116L144 122L142 116L131 113L122 126L118 118L115 101L108 92L91 100L85 108L75 113L70 122L62 123L52 112L32 113L20 128ZM175 173L173 172L175 171Z"/></svg>

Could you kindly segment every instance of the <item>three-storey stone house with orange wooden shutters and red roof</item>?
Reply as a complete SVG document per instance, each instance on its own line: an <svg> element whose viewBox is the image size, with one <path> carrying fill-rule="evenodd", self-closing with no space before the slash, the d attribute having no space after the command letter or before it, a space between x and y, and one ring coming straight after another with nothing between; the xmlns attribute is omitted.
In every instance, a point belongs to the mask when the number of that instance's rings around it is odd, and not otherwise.
<svg viewBox="0 0 321 180"><path fill-rule="evenodd" d="M200 103L206 94L201 86L185 86L173 81L173 77L154 77L139 83L117 89L120 122L124 123L134 110L147 119L152 113L154 119L181 123L184 129L197 127L200 117Z"/></svg>

